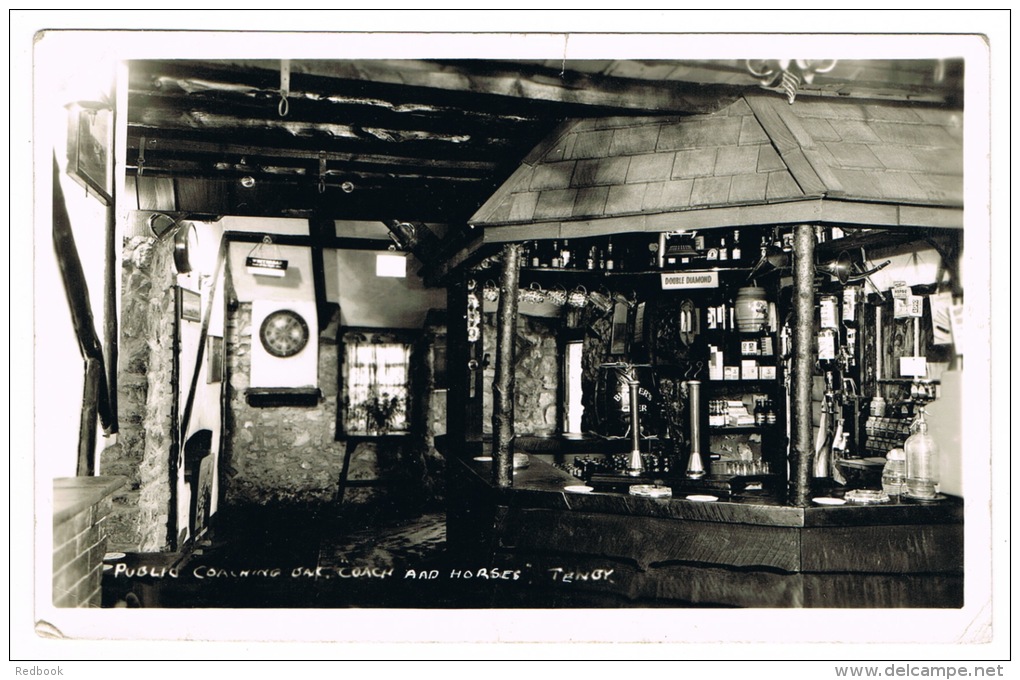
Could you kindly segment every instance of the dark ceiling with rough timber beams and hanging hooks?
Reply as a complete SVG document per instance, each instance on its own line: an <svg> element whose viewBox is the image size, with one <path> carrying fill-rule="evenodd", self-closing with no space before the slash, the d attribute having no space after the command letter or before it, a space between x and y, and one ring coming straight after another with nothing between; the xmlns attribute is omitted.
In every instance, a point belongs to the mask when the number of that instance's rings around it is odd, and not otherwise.
<svg viewBox="0 0 1020 680"><path fill-rule="evenodd" d="M957 105L961 81L961 64L852 61L802 92ZM133 61L128 173L172 179L185 213L456 231L565 119L711 111L757 87L738 60Z"/></svg>

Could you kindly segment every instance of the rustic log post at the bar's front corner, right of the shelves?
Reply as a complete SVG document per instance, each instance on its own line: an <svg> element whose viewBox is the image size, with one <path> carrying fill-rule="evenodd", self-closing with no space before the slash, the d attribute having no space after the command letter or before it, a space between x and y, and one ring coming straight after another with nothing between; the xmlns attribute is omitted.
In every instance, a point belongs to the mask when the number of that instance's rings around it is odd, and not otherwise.
<svg viewBox="0 0 1020 680"><path fill-rule="evenodd" d="M794 366L790 399L790 502L807 506L811 484L811 382L815 365L815 230L794 230Z"/></svg>

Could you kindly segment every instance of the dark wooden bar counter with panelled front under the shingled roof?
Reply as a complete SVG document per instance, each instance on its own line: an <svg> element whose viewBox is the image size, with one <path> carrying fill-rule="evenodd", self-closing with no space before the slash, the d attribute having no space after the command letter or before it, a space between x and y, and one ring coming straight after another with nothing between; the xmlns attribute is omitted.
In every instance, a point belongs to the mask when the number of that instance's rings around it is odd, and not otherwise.
<svg viewBox="0 0 1020 680"><path fill-rule="evenodd" d="M543 458L589 442L555 441L534 453L521 438L531 453L510 488L475 460L488 444L447 451L448 542L499 566L577 575L569 590L551 581L560 606L963 606L961 499L801 508L769 491L708 503L575 493L565 488L583 482ZM612 580L592 579L599 570Z"/></svg>

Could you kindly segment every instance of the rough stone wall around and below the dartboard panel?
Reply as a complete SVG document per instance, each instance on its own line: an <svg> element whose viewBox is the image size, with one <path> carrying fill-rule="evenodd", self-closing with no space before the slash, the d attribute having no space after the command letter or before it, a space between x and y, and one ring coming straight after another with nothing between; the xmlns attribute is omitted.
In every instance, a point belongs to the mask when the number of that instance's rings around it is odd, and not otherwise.
<svg viewBox="0 0 1020 680"><path fill-rule="evenodd" d="M224 328L224 506L314 509L334 503L344 460L344 444L336 440L338 346L319 342L322 398L316 406L267 408L251 407L246 400L251 347L252 307L239 303L227 311Z"/></svg>

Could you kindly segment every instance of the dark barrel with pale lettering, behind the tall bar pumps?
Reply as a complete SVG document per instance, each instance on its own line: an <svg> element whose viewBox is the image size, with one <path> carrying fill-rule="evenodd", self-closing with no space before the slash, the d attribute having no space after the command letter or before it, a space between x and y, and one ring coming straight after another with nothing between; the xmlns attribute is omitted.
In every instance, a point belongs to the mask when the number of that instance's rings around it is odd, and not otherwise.
<svg viewBox="0 0 1020 680"><path fill-rule="evenodd" d="M599 366L595 385L595 429L606 437L630 435L630 386L638 381L638 420L641 436L659 432L661 413L655 373L647 364L608 363Z"/></svg>

